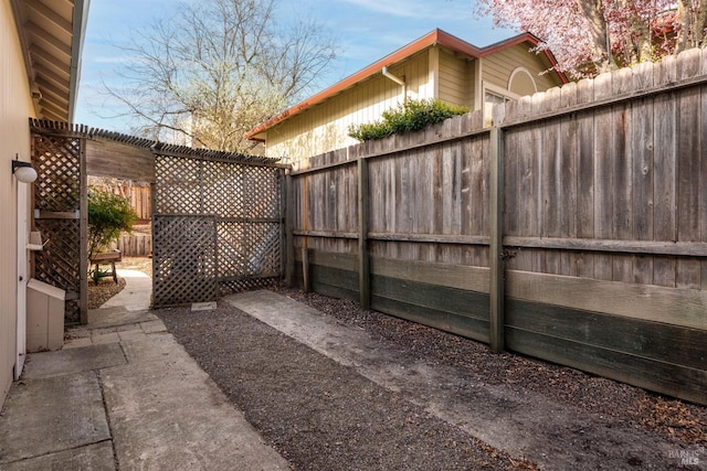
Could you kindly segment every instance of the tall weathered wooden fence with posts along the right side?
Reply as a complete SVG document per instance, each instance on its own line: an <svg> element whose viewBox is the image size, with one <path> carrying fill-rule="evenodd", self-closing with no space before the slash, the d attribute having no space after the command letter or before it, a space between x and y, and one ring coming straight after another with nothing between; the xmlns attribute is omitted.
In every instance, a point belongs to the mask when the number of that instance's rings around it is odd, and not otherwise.
<svg viewBox="0 0 707 471"><path fill-rule="evenodd" d="M707 52L310 159L306 289L707 404Z"/></svg>

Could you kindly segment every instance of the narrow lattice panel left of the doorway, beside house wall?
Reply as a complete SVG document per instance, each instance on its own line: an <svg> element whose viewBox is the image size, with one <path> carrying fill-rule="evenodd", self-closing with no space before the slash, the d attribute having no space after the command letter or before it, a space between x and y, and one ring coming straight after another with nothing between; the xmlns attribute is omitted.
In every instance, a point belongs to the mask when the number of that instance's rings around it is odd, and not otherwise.
<svg viewBox="0 0 707 471"><path fill-rule="evenodd" d="M80 159L81 139L34 135L34 208L39 216L34 227L45 245L44 250L33 251L32 276L66 290L67 323L78 322L81 317Z"/></svg>

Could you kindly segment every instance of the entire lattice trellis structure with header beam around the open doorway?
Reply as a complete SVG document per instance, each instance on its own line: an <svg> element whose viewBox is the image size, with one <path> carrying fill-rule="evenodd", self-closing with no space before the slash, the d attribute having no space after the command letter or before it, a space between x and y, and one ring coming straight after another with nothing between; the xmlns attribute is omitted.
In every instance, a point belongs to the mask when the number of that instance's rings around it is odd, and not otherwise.
<svg viewBox="0 0 707 471"><path fill-rule="evenodd" d="M214 300L282 275L287 165L66 122L30 119L30 128L34 228L46 242L34 254L33 276L67 291L67 322L87 322L88 174L155 182L154 306Z"/></svg>

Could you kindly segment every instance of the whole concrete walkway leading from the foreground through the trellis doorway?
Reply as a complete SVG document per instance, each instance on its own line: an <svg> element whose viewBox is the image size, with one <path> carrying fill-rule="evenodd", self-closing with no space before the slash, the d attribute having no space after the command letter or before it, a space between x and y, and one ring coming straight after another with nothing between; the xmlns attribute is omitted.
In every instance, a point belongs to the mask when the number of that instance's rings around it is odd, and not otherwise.
<svg viewBox="0 0 707 471"><path fill-rule="evenodd" d="M126 288L63 350L28 356L0 416L0 469L287 470L146 310L150 279L119 275Z"/></svg>

